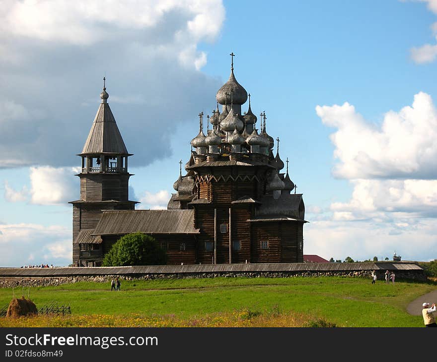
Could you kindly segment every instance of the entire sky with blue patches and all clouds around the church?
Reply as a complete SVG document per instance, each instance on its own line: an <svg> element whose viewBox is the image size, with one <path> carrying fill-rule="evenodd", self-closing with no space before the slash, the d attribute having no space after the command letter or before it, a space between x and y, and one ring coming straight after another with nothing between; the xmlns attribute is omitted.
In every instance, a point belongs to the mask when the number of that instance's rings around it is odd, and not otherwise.
<svg viewBox="0 0 437 362"><path fill-rule="evenodd" d="M230 52L303 192L304 253L437 257L437 1L98 4L0 5L0 265L71 262L103 76L131 198L165 207Z"/></svg>

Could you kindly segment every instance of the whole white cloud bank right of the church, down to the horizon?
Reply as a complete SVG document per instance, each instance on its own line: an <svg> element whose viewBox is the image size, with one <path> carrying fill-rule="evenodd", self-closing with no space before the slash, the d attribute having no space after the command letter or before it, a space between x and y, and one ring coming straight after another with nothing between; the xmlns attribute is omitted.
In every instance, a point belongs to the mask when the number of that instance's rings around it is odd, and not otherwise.
<svg viewBox="0 0 437 362"><path fill-rule="evenodd" d="M337 128L330 136L333 175L349 179L354 189L347 202L313 208L304 252L364 260L391 259L397 250L406 260L435 259L437 117L431 97L416 94L412 106L387 112L381 124L366 121L347 102L316 112Z"/></svg>

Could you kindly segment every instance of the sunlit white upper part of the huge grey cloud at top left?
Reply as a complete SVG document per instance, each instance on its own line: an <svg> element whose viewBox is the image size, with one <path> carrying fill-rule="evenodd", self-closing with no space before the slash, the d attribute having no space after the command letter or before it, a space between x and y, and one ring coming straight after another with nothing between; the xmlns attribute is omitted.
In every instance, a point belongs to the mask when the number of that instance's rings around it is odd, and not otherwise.
<svg viewBox="0 0 437 362"><path fill-rule="evenodd" d="M214 41L224 20L220 0L107 0L104 6L90 0L6 1L1 10L0 29L5 36L80 46L104 42L120 33L156 29L168 14L177 13L184 22L162 44L177 54L187 46L196 48L200 41ZM204 56L191 52L191 64L199 65Z"/></svg>

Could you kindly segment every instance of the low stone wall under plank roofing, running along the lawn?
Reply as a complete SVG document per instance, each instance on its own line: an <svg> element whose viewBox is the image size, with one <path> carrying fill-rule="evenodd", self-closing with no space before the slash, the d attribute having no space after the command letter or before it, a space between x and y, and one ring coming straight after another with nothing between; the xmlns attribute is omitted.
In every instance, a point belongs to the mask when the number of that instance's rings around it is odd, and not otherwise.
<svg viewBox="0 0 437 362"><path fill-rule="evenodd" d="M397 270L396 280L408 279L425 282L427 277L423 270ZM111 279L119 277L123 280L152 280L152 279L183 279L183 278L291 278L291 277L344 277L344 278L368 278L370 283L371 271L292 271L292 272L211 272L211 273L165 273L165 274L124 274L124 275L75 275L75 276L52 276L52 277L0 277L0 288L13 288L17 286L58 286L76 282L109 283ZM384 282L384 271L376 272L377 282Z"/></svg>

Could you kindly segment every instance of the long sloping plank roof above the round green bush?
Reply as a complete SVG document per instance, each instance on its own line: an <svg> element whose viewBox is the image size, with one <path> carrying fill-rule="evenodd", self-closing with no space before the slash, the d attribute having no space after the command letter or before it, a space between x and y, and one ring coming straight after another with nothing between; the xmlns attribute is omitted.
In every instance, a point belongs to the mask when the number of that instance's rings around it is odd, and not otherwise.
<svg viewBox="0 0 437 362"><path fill-rule="evenodd" d="M193 210L104 211L93 235L199 234Z"/></svg>

